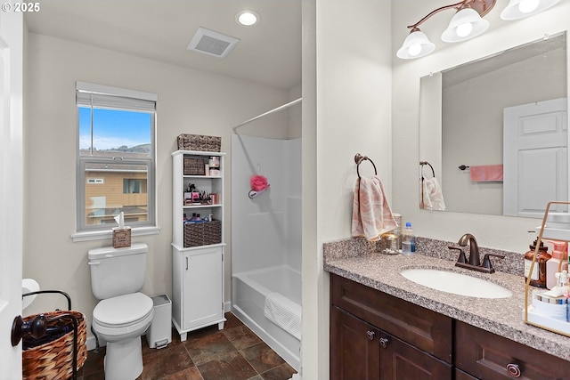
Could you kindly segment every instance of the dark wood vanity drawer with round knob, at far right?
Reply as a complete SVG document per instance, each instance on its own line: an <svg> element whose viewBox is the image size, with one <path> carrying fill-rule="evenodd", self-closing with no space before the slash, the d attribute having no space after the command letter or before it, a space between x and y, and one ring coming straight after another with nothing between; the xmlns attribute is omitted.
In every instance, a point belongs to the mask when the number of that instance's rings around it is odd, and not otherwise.
<svg viewBox="0 0 570 380"><path fill-rule="evenodd" d="M481 379L570 379L568 361L470 326L455 325L455 366ZM509 374L508 366L513 372ZM515 376L520 371L519 376Z"/></svg>

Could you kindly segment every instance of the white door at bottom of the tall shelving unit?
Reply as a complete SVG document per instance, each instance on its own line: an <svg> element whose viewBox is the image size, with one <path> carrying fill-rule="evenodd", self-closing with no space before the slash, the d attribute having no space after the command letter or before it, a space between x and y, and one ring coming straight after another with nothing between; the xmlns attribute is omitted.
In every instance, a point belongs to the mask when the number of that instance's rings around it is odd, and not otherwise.
<svg viewBox="0 0 570 380"><path fill-rule="evenodd" d="M183 329L224 318L223 248L203 248L183 255Z"/></svg>

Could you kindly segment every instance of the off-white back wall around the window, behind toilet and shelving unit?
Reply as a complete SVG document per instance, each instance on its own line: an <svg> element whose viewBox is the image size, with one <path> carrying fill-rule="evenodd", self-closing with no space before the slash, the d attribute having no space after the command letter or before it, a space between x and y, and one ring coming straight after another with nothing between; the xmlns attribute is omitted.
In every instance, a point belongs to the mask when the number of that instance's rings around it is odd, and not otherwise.
<svg viewBox="0 0 570 380"><path fill-rule="evenodd" d="M149 61L124 53L30 33L27 46L27 123L23 276L42 288L61 289L74 309L88 319L95 305L86 260L87 250L110 240L72 243L75 229L76 80L158 93L157 201L158 235L135 237L149 246L148 295L171 295L172 159L180 133L222 136L230 152L232 126L288 101L286 91ZM278 121L287 131L287 118ZM285 132L287 133L287 132ZM226 160L229 164L230 160ZM230 166L226 165L226 174ZM226 192L230 181L226 181ZM230 207L226 207L225 220ZM229 243L230 229L225 229ZM226 253L229 252L229 244ZM229 257L228 255L227 257ZM230 262L225 261L225 299L230 300ZM28 313L61 307L45 296ZM90 334L90 333L89 333Z"/></svg>

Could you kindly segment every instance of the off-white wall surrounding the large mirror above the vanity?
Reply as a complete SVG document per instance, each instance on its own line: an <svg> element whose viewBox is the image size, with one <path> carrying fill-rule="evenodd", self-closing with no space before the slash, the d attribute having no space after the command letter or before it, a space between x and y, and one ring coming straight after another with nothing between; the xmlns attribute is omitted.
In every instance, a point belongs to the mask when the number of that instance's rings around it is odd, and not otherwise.
<svg viewBox="0 0 570 380"><path fill-rule="evenodd" d="M482 36L460 44L437 42L452 18L452 11L440 12L425 22L422 31L436 43L436 52L418 60L404 61L395 57L408 34L405 28L428 12L441 6L438 0L418 2L395 0L392 8L393 64L393 188L394 207L405 221L413 222L419 236L456 241L466 232L476 236L479 246L520 252L527 250L533 239L528 230L540 221L495 215L478 215L419 210L419 78L430 72L457 66L460 63L497 53L515 45L536 40L545 34L554 35L569 26L570 2L560 2L546 12L529 19L503 21L499 18L506 2L497 2L486 18L492 27ZM396 85L397 84L397 85ZM468 141L466 142L469 143ZM467 164L466 164L467 165Z"/></svg>

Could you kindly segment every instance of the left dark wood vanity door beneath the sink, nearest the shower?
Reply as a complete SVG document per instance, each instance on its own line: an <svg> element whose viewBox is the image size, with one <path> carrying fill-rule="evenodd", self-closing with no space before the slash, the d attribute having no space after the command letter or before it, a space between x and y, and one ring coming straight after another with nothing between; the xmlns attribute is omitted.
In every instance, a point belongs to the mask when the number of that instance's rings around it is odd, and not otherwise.
<svg viewBox="0 0 570 380"><path fill-rule="evenodd" d="M330 307L330 380L378 380L379 329Z"/></svg>

